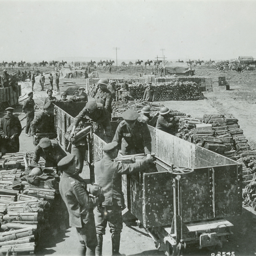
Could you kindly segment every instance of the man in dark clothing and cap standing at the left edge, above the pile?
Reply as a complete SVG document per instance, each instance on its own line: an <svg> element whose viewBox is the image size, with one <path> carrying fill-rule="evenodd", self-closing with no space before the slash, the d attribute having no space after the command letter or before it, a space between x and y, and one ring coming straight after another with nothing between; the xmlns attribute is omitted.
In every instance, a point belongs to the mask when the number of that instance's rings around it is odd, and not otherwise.
<svg viewBox="0 0 256 256"><path fill-rule="evenodd" d="M13 108L7 108L6 115L0 119L0 152L2 155L19 152L18 137L22 133L22 125L13 115L13 110Z"/></svg>

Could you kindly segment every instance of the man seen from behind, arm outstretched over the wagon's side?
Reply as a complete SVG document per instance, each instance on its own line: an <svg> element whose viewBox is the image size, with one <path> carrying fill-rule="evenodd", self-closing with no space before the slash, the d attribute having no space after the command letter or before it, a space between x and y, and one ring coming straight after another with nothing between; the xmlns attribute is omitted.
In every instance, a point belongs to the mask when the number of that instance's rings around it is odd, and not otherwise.
<svg viewBox="0 0 256 256"><path fill-rule="evenodd" d="M153 158L147 156L145 160L131 164L114 161L118 154L116 141L104 145L103 151L105 153L103 159L96 162L94 168L96 184L102 188L105 197L102 206L98 206L94 210L98 240L96 255L102 256L103 234L105 234L108 222L112 233L112 255L121 255L119 246L122 231L122 209L124 208L122 175L145 171L149 164L153 163Z"/></svg>

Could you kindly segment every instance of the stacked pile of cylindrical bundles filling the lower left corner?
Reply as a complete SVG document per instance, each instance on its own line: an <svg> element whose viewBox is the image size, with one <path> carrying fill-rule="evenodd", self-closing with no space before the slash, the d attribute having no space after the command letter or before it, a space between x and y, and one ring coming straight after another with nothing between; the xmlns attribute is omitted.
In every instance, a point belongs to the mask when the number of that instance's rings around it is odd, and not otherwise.
<svg viewBox="0 0 256 256"><path fill-rule="evenodd" d="M49 214L56 191L17 182L32 154L12 153L0 158L0 252L34 254L42 232L50 228ZM39 162L43 164L43 162Z"/></svg>

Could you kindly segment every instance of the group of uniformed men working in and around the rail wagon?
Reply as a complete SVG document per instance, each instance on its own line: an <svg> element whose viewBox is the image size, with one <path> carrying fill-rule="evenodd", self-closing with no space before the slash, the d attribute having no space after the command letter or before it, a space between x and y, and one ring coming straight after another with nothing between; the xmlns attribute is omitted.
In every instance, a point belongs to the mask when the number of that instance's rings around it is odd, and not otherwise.
<svg viewBox="0 0 256 256"><path fill-rule="evenodd" d="M59 191L69 211L70 226L76 227L83 253L87 255L102 255L102 241L105 228L109 223L112 233L112 255L119 253L120 233L122 230L122 209L125 207L122 194L122 178L124 174L144 172L153 163L151 134L147 122L151 119L151 109L144 107L141 114L134 110L126 110L112 139L111 113L112 100L115 93L113 84L106 79L99 80L99 90L94 101L88 101L83 88L80 96L86 102L85 107L75 117L68 127L65 138L71 143L71 154L62 150L56 138L54 123L54 102L52 90L48 90L44 111L34 115L35 102L33 92L23 106L27 116L26 135L33 136L35 151L32 166L38 163L40 157L45 159L46 167L55 167L57 174L61 175ZM145 92L146 100L154 100L151 84ZM129 88L128 88L129 90ZM66 102L67 95L61 95L61 101ZM22 126L17 117L13 115L12 108L6 109L7 114L0 119L0 150L2 153L19 151L18 136ZM174 112L168 108L161 108L157 120L157 128L168 133L175 131L177 115L184 113ZM91 126L92 132L103 138L106 142L102 150L104 157L95 163L95 181L97 193L88 190L86 182L79 176L81 174L86 151L88 150L87 137L77 139L76 134L84 127ZM42 135L43 134L43 135ZM45 135L48 135L45 137ZM12 145L15 144L16 147ZM116 161L119 149L123 155L145 154L145 159L131 164ZM91 189L91 188L90 188Z"/></svg>

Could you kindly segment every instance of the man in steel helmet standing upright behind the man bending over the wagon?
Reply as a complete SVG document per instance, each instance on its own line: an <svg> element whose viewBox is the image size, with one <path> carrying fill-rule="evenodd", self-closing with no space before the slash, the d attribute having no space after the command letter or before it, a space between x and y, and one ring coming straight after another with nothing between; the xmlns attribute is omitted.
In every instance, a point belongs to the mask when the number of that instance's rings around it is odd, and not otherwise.
<svg viewBox="0 0 256 256"><path fill-rule="evenodd" d="M95 95L95 101L97 103L103 104L104 108L109 112L109 115L111 116L112 113L112 95L111 92L107 89L108 86L108 80L107 79L99 79L98 85L99 89Z"/></svg>

